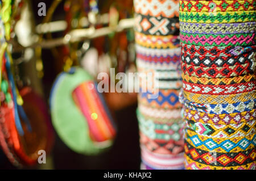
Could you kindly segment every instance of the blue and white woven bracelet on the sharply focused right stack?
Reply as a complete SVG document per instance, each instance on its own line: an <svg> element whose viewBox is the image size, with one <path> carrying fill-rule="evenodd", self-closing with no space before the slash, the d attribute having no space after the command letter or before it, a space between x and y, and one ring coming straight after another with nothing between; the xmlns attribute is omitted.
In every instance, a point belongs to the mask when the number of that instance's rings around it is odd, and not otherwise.
<svg viewBox="0 0 256 181"><path fill-rule="evenodd" d="M248 100L246 102L237 102L234 104L200 104L190 102L180 96L180 102L191 110L199 112L207 112L210 114L236 113L251 111L256 108L256 99Z"/></svg>

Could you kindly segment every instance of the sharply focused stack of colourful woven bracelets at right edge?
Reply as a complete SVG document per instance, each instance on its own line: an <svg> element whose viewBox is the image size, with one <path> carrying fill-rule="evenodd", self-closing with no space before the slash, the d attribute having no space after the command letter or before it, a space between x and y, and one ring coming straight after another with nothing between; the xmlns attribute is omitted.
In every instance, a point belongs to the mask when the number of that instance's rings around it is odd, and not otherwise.
<svg viewBox="0 0 256 181"><path fill-rule="evenodd" d="M256 1L179 2L185 168L255 170Z"/></svg>

